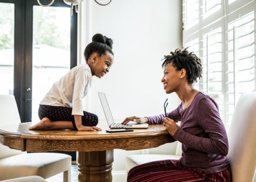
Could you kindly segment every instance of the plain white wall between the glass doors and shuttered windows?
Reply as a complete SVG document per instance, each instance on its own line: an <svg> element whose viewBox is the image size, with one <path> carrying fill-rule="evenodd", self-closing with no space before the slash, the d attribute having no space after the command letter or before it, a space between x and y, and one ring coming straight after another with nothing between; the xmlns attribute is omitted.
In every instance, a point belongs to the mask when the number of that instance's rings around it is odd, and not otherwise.
<svg viewBox="0 0 256 182"><path fill-rule="evenodd" d="M181 0L112 0L108 6L85 0L82 6L81 50L101 33L113 39L115 59L107 75L94 78L87 110L105 118L98 91L105 92L114 119L162 114L166 98L167 110L176 108L179 99L166 95L160 80L163 56L182 47ZM115 150L113 171L124 171L125 156L134 153L140 150Z"/></svg>

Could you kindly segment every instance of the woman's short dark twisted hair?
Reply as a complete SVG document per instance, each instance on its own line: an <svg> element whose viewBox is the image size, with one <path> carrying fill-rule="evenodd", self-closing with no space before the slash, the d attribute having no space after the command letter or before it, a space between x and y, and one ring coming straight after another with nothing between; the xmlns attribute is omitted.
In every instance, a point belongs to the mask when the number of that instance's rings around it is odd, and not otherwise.
<svg viewBox="0 0 256 182"><path fill-rule="evenodd" d="M197 82L197 78L202 77L202 63L195 54L192 54L193 52L189 53L186 49L180 50L180 48L177 48L175 52L171 52L171 55L164 56L162 67L172 63L176 71L184 68L189 84L193 84Z"/></svg>

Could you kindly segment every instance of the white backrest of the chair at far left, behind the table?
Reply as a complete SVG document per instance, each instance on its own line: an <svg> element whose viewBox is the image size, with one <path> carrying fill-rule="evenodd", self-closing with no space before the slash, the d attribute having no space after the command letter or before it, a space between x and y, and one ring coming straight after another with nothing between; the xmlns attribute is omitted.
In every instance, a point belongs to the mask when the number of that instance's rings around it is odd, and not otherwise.
<svg viewBox="0 0 256 182"><path fill-rule="evenodd" d="M14 96L0 95L0 129L4 125L14 123L20 123L20 115ZM0 144L0 159L23 153Z"/></svg>

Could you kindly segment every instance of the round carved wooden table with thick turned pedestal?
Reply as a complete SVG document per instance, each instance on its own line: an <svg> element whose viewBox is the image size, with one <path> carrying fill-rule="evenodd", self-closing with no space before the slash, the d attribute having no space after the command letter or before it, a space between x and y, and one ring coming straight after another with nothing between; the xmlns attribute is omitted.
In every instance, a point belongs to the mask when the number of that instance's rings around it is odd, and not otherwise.
<svg viewBox="0 0 256 182"><path fill-rule="evenodd" d="M148 129L107 133L107 122L99 120L102 131L29 130L32 122L6 125L0 129L0 143L9 148L30 151L79 151L79 182L111 182L113 149L154 148L174 140L163 125Z"/></svg>

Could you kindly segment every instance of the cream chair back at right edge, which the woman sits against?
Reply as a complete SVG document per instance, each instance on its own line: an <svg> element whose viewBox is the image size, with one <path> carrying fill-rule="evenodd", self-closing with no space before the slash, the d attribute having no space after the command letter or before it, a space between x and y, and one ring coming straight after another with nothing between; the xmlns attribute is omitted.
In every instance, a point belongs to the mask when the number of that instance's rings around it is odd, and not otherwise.
<svg viewBox="0 0 256 182"><path fill-rule="evenodd" d="M256 169L256 92L239 98L228 139L233 182L252 182Z"/></svg>

